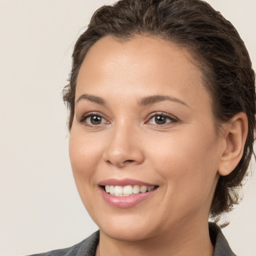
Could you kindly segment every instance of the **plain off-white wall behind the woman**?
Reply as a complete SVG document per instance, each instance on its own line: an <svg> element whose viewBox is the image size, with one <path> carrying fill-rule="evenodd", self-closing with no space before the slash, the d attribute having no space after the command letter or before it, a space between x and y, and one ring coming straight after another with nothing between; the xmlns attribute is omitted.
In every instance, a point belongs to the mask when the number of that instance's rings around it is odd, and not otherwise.
<svg viewBox="0 0 256 256"><path fill-rule="evenodd" d="M0 255L70 246L97 229L68 159L62 87L71 52L107 0L0 0ZM237 28L256 66L256 0L208 0ZM256 175L223 229L238 255L256 255Z"/></svg>

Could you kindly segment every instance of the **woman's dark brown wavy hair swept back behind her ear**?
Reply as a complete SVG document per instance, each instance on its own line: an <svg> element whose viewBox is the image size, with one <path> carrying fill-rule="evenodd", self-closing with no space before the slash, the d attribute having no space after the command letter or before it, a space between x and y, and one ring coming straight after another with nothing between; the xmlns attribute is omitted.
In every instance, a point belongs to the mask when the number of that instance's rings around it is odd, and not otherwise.
<svg viewBox="0 0 256 256"><path fill-rule="evenodd" d="M119 0L100 7L75 43L69 84L63 89L69 130L79 68L90 47L107 35L117 40L136 35L158 36L185 47L199 64L216 123L228 122L238 112L246 113L248 134L242 158L230 174L219 177L213 195L210 215L217 221L239 202L238 188L253 154L255 75L238 32L202 0Z"/></svg>

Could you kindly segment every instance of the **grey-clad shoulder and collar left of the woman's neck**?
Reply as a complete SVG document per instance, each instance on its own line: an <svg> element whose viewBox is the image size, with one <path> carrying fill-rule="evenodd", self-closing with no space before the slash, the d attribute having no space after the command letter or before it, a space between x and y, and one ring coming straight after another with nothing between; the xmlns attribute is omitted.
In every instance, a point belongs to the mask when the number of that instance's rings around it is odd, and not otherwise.
<svg viewBox="0 0 256 256"><path fill-rule="evenodd" d="M94 256L99 240L99 231L94 232L81 242L64 249L51 250L30 256Z"/></svg>

